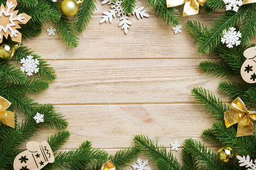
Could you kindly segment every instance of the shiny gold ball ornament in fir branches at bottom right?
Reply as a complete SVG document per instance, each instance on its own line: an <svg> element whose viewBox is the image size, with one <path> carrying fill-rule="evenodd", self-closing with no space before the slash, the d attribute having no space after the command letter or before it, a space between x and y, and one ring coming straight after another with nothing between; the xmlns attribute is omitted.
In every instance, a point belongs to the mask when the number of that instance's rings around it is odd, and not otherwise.
<svg viewBox="0 0 256 170"><path fill-rule="evenodd" d="M222 147L217 151L217 157L221 162L229 163L235 158L235 154L230 147Z"/></svg>

